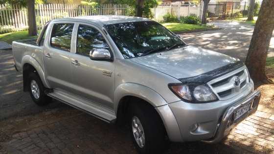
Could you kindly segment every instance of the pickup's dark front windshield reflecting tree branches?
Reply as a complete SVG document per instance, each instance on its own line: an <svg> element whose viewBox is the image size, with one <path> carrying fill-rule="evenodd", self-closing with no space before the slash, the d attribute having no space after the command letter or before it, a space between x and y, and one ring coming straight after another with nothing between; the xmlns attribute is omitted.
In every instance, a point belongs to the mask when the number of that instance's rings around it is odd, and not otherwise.
<svg viewBox="0 0 274 154"><path fill-rule="evenodd" d="M184 44L181 39L157 22L125 22L105 25L108 33L124 58L162 51L174 44Z"/></svg>

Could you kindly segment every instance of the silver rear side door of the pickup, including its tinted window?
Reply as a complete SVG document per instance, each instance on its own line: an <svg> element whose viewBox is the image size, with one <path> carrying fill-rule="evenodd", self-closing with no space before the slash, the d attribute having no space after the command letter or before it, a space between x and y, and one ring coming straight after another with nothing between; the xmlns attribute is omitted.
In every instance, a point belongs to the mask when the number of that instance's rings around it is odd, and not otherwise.
<svg viewBox="0 0 274 154"><path fill-rule="evenodd" d="M74 23L55 22L43 47L46 79L51 88L71 91L70 56Z"/></svg>

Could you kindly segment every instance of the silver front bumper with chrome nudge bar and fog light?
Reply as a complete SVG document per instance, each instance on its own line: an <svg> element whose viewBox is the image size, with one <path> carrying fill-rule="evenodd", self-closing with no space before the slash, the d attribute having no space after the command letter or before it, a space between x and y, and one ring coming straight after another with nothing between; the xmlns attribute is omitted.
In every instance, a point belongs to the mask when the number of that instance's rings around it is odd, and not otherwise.
<svg viewBox="0 0 274 154"><path fill-rule="evenodd" d="M217 143L228 135L236 124L257 110L259 99L260 91L253 91L251 87L250 90L226 101L201 104L178 101L157 107L156 110L163 120L171 141L202 140L207 143ZM251 109L237 119L235 123L229 123L234 111L251 101ZM227 127L228 123L229 127ZM197 130L191 131L194 124L198 124L199 127Z"/></svg>

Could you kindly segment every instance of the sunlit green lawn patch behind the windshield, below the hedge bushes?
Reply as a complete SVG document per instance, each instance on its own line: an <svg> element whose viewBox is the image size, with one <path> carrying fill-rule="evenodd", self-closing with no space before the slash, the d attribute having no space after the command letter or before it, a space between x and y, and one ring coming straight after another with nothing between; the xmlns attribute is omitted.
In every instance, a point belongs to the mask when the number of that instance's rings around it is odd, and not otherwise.
<svg viewBox="0 0 274 154"><path fill-rule="evenodd" d="M167 29L173 32L183 32L183 31L191 31L191 30L206 30L207 26L203 25L195 25L195 24L186 24L186 23L175 23L175 22L167 22L162 23Z"/></svg>

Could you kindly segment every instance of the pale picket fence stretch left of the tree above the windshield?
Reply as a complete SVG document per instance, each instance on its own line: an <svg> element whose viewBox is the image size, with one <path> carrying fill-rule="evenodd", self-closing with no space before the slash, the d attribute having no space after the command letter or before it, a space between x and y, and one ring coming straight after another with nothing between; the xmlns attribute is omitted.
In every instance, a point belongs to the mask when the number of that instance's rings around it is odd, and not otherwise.
<svg viewBox="0 0 274 154"><path fill-rule="evenodd" d="M56 18L91 16L91 15L118 15L129 16L132 7L126 4L37 4L35 14L37 27L40 29L47 21ZM27 9L19 5L0 5L0 33L27 29Z"/></svg>

